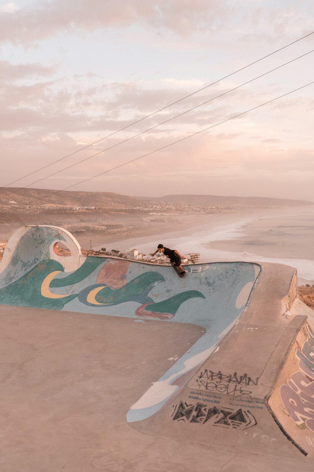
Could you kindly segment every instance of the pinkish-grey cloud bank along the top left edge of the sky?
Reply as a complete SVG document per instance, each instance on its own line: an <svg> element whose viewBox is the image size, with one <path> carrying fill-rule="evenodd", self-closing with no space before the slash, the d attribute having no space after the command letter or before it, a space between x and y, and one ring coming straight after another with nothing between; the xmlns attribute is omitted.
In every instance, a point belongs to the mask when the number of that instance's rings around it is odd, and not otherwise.
<svg viewBox="0 0 314 472"><path fill-rule="evenodd" d="M15 11L13 5L3 10L0 17L0 41L18 43L47 38L60 31L78 29L94 31L99 28L126 28L142 24L171 30L177 34L191 34L206 30L230 7L218 0L124 0L114 2L90 0L37 1ZM8 11L10 10L10 13Z"/></svg>

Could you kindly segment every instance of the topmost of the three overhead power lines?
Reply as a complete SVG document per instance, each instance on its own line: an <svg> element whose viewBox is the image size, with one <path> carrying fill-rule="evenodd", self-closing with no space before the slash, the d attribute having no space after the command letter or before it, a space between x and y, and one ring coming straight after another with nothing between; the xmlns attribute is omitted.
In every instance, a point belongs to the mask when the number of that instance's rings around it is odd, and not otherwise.
<svg viewBox="0 0 314 472"><path fill-rule="evenodd" d="M260 58L260 59L255 60L254 62L251 62L251 63L248 64L247 66L241 67L240 69L238 69L238 70L232 72L231 74L228 74L227 76L224 76L224 77L222 77L221 79L216 80L215 82L212 82L211 84L206 85L205 87L202 87L201 89L196 90L196 91L193 92L193 93L190 93L189 95L185 95L185 97L182 97L182 98L180 98L179 100L174 101L174 102L170 103L169 105L166 105L165 107L161 108L160 110L154 111L153 113L151 113L151 114L149 114L149 115L146 115L144 118L140 118L139 120L134 121L133 123L130 123L129 125L124 126L123 128L121 128L121 129L119 129L119 130L117 130L117 131L114 131L114 132L111 133L110 135L107 135L107 136L105 136L105 137L103 137L103 138L101 138L101 139L98 139L98 140L95 141L94 143L88 144L87 146L84 146L84 147L82 147L81 149L78 149L77 151L72 152L71 154L68 154L68 155L66 155L66 156L64 156L64 157L62 157L62 158L60 158L60 159L57 159L57 160L55 160L54 162L51 162L50 164L47 164L46 166L41 167L40 169L34 170L34 171L30 172L29 174L26 174L26 175L24 175L23 177L20 177L20 178L14 180L13 182L10 182L10 183L7 184L7 185L3 185L2 187L0 187L0 190L1 190L2 188L4 188L4 187L8 187L9 185L15 184L16 182L22 180L23 178L29 177L29 176L31 176L32 174L35 174L36 172L39 172L40 170L46 169L47 167L50 167L50 166L52 166L53 164L56 164L56 162L60 162L61 160L64 160L64 159L66 159L66 158L72 156L73 154L76 154L77 152L81 152L81 151L83 151L84 149L87 149L88 147L93 146L94 144L97 144L97 143L99 143L100 141L103 141L104 139L109 138L110 136L113 136L113 135L115 135L115 134L117 134L117 133L120 133L120 131L123 131L123 130L127 129L127 128L129 128L130 126L136 125L136 124L139 123L140 121L143 121L143 120L145 120L146 118L149 118L149 117L155 115L156 113L159 113L159 112L162 111L162 110L166 110L167 108L171 107L172 105L175 105L176 103L179 103L180 101L185 100L185 99L188 98L188 97L192 97L192 95L195 95L195 93L201 92L202 90L205 90L206 88L211 87L212 85L217 84L218 82L221 82L222 80L224 80L224 79L226 79L226 78L228 78L228 77L231 77L231 76L233 76L234 74L237 74L238 72L240 72L240 71L246 69L247 67L253 66L253 64L256 64L257 62L259 62L259 61L261 61L261 60L263 60L263 59L266 59L266 58L272 56L272 55L275 54L276 52L279 52L279 51L282 51L282 50L285 49L285 48L288 48L288 47L291 46L292 44L295 44L296 42L301 41L302 39L305 39L305 38L307 38L308 36L311 36L311 34L314 34L314 31L312 31L312 32L309 33L309 34L306 34L305 36L302 36L301 38L299 38L299 39L297 39L297 40L295 40L295 41L290 42L289 44L286 44L286 46L283 46L282 48L279 48L279 49L277 49L276 51L273 51L273 52L271 52L270 54L267 54L266 56L264 56L264 57L262 57L262 58ZM30 184L30 185L32 185L32 184Z"/></svg>

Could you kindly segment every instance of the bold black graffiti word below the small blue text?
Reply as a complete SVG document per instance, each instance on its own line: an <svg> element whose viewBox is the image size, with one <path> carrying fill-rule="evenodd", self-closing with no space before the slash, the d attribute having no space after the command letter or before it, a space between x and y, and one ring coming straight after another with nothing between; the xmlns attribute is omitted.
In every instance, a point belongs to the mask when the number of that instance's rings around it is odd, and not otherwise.
<svg viewBox="0 0 314 472"><path fill-rule="evenodd" d="M253 414L249 410L242 410L242 408L234 411L232 408L228 407L218 409L217 406L213 406L209 408L209 405L200 402L197 402L196 405L187 405L187 403L183 403L182 401L173 408L174 411L171 415L173 421L201 424L205 424L209 421L209 424L212 426L239 429L242 431L257 424Z"/></svg>

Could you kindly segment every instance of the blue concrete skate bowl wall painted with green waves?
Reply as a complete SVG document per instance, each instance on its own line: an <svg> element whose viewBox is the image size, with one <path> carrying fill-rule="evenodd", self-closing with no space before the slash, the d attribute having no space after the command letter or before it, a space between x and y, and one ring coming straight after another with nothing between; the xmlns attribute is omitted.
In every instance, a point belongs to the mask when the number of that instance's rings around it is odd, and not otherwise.
<svg viewBox="0 0 314 472"><path fill-rule="evenodd" d="M68 248L56 251L56 243ZM68 255L71 253L71 255ZM82 256L63 228L27 226L9 239L0 264L0 304L191 323L204 334L133 405L128 421L161 409L215 351L239 320L260 272L254 263L170 266L115 257Z"/></svg>

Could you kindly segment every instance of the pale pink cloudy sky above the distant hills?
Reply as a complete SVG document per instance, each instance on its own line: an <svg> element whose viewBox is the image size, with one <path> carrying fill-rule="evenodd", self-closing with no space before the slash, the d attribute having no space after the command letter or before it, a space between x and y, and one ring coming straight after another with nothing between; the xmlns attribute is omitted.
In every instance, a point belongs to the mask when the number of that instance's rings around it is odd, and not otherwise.
<svg viewBox="0 0 314 472"><path fill-rule="evenodd" d="M0 0L1 185L309 34L310 0ZM314 81L314 34L13 186L62 189ZM314 201L314 84L71 188Z"/></svg>

